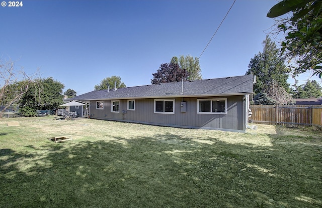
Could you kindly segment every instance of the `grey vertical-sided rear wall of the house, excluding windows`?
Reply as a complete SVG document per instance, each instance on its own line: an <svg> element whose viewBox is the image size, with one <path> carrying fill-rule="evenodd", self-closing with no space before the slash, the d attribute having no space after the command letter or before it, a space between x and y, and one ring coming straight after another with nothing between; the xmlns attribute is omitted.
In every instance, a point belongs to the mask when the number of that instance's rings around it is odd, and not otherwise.
<svg viewBox="0 0 322 208"><path fill-rule="evenodd" d="M111 101L104 100L104 109L90 103L90 116L96 119L165 125L184 128L227 129L245 131L245 102L240 96L175 98L175 114L154 113L154 99L135 99L135 110L127 110L127 100L120 100L119 113L111 112ZM198 114L197 99L227 98L227 114ZM181 102L186 102L186 112L181 112ZM122 111L126 111L125 114Z"/></svg>

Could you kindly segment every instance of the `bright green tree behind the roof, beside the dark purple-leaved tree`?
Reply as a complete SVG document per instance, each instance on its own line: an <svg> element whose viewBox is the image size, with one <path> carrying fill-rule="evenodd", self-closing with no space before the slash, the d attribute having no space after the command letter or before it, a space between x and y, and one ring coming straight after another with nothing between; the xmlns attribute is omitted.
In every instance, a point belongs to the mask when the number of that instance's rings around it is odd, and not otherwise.
<svg viewBox="0 0 322 208"><path fill-rule="evenodd" d="M189 74L187 80L202 79L199 59L197 57L193 58L189 55L184 57L183 55L181 55L178 59L178 57L174 56L171 58L170 63L179 64L181 69L187 70Z"/></svg>

